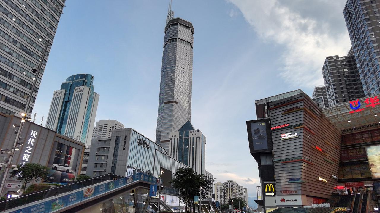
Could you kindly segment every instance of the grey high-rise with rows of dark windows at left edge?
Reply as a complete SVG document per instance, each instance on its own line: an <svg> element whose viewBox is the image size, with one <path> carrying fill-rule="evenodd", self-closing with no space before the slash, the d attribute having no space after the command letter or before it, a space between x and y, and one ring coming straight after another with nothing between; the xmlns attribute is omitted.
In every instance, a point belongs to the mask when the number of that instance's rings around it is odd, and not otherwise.
<svg viewBox="0 0 380 213"><path fill-rule="evenodd" d="M43 60L28 114L32 112L65 0L0 1L0 113L23 113Z"/></svg>

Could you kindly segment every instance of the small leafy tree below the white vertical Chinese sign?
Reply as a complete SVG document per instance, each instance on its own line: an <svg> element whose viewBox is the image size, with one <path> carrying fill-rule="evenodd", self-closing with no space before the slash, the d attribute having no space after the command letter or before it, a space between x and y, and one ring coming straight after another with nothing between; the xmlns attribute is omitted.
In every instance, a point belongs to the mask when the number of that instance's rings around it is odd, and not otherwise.
<svg viewBox="0 0 380 213"><path fill-rule="evenodd" d="M13 173L11 177L17 177L17 180L21 180L24 183L24 186L22 186L23 190L25 190L29 182L44 179L49 174L49 168L38 163L25 163L24 166L18 165L17 169L17 174Z"/></svg>

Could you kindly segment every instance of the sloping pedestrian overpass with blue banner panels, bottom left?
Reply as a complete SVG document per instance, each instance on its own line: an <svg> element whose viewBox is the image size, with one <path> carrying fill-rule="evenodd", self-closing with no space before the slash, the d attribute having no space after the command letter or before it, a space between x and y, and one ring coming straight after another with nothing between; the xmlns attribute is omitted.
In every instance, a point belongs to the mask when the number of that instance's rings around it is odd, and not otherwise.
<svg viewBox="0 0 380 213"><path fill-rule="evenodd" d="M138 173L128 177L106 174L0 202L0 213L155 213L158 199L149 196L159 180ZM160 202L161 211L171 211Z"/></svg>

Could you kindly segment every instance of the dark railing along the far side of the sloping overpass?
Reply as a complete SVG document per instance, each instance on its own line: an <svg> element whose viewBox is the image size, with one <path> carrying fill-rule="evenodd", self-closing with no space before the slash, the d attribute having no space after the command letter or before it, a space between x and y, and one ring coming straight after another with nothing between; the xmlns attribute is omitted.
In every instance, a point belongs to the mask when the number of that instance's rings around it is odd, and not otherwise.
<svg viewBox="0 0 380 213"><path fill-rule="evenodd" d="M57 196L63 193L68 193L68 192L78 190L84 187L92 186L104 181L115 180L115 178L120 179L124 177L115 175L115 174L105 174L98 177L94 177L92 179L82 180L82 181L71 183L68 185L58 186L58 187L54 187L48 190L39 191L33 194L27 194L25 196L5 200L5 201L0 202L0 211L6 211L11 208L27 205L32 202L36 202L38 200L51 198L53 196Z"/></svg>

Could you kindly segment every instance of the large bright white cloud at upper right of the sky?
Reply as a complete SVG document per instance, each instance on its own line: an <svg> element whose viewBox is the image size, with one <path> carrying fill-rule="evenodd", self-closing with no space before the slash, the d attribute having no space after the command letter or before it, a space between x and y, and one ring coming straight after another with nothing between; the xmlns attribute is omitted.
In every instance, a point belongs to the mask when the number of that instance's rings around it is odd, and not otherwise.
<svg viewBox="0 0 380 213"><path fill-rule="evenodd" d="M280 44L282 57L273 60L282 61L283 66L278 69L279 76L291 85L309 88L321 85L321 68L326 56L343 56L350 49L347 31L329 32L329 23L324 22L323 17L317 20L307 15L301 16L277 0L229 1L241 10L260 38Z"/></svg>

